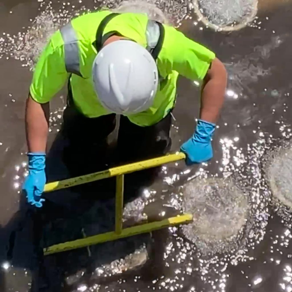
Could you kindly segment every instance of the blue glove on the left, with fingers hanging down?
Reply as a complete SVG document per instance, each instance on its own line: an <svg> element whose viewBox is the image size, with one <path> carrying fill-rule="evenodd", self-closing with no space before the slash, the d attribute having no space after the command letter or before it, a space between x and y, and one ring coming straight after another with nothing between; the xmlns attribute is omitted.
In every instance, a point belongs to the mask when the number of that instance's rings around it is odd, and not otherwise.
<svg viewBox="0 0 292 292"><path fill-rule="evenodd" d="M27 202L38 208L43 206L45 199L41 199L46 184L44 152L28 153L28 176L23 184L22 190L26 192Z"/></svg>

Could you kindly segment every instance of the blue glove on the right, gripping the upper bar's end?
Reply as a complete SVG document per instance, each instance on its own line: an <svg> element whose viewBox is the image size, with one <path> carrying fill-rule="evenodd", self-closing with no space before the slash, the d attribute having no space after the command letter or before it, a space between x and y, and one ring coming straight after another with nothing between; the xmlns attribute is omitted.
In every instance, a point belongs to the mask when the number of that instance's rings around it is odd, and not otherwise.
<svg viewBox="0 0 292 292"><path fill-rule="evenodd" d="M194 135L180 147L187 156L187 165L206 162L213 157L211 139L215 126L215 124L198 120Z"/></svg>

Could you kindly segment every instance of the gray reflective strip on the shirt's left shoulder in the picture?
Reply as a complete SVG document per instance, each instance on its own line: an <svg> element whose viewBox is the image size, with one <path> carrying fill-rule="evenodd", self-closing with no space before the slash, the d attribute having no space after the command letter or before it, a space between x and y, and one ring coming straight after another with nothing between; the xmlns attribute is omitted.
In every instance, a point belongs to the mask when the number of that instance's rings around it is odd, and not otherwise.
<svg viewBox="0 0 292 292"><path fill-rule="evenodd" d="M60 32L64 41L66 71L82 77L80 73L78 39L71 22L63 26Z"/></svg>

